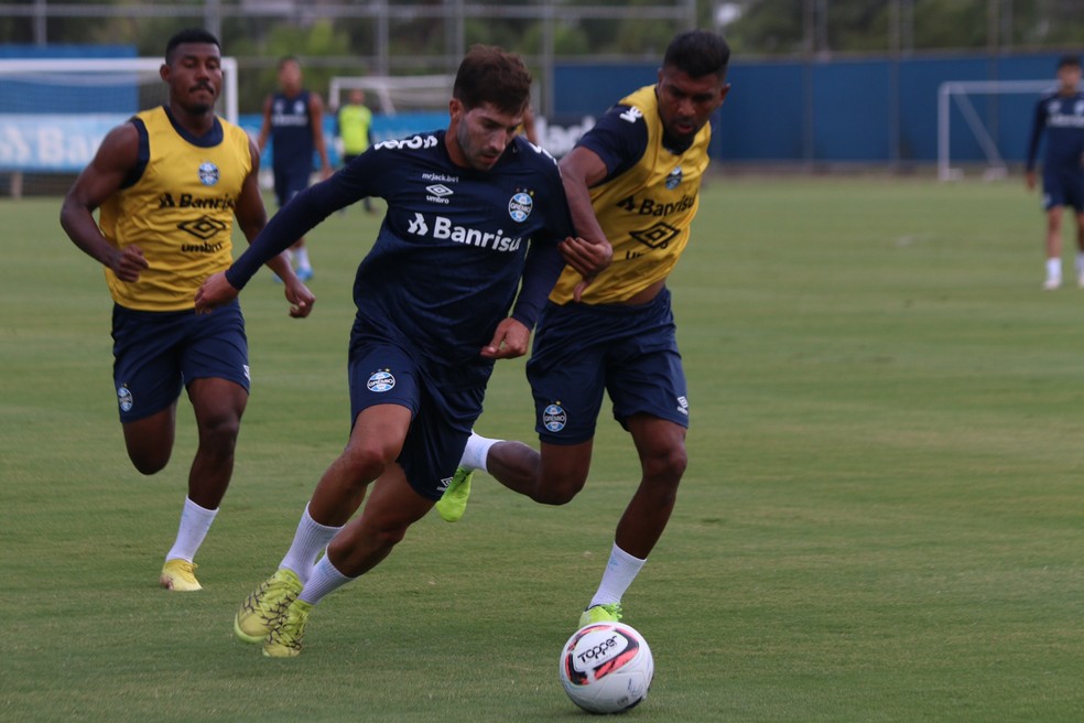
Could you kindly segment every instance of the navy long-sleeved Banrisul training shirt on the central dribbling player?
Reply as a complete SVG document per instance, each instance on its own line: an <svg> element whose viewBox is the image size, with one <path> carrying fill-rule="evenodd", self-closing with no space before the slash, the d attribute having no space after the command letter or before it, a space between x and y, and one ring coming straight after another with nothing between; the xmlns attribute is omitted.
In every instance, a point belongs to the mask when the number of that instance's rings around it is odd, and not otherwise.
<svg viewBox="0 0 1084 723"><path fill-rule="evenodd" d="M384 198L388 213L358 267L355 331L442 366L491 368L478 353L508 315L520 278L512 316L532 327L564 267L556 244L573 231L556 162L522 138L490 171L454 164L443 130L377 143L294 196L227 279L242 288L294 239L366 196Z"/></svg>

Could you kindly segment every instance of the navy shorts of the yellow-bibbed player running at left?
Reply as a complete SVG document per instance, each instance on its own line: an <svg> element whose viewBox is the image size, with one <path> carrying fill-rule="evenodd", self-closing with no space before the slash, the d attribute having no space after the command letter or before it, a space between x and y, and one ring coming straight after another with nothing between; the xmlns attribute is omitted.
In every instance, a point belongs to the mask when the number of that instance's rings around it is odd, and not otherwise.
<svg viewBox="0 0 1084 723"><path fill-rule="evenodd" d="M210 314L113 304L113 385L121 422L156 414L193 379L249 389L248 338L237 301Z"/></svg>

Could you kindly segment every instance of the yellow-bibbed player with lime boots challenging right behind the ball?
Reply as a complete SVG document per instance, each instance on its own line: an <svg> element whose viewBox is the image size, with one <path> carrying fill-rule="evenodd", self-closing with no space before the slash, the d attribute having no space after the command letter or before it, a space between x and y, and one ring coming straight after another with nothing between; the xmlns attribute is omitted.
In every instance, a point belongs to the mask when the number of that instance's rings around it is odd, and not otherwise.
<svg viewBox="0 0 1084 723"><path fill-rule="evenodd" d="M471 434L437 505L445 519L462 517L474 470L536 501L570 501L586 482L609 391L642 477L581 626L621 617L621 597L662 535L685 471L689 402L665 281L689 242L729 56L715 33L678 35L658 83L620 100L561 160L576 231L608 240L614 262L579 299L582 283L566 270L539 317L527 371L541 451Z"/></svg>

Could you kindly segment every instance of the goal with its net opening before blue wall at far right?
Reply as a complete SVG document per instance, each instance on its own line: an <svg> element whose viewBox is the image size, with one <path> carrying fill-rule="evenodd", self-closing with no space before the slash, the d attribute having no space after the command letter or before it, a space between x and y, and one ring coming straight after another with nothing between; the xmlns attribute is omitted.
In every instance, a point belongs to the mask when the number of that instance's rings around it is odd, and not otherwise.
<svg viewBox="0 0 1084 723"><path fill-rule="evenodd" d="M1004 177L1008 162L1023 161L1036 102L1054 89L1045 80L951 80L937 89L937 177Z"/></svg>

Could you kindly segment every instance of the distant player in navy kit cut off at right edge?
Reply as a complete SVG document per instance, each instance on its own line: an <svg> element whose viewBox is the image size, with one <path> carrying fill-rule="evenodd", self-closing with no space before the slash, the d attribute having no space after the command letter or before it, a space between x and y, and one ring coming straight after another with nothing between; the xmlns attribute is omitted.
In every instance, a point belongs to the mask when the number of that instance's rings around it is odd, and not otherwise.
<svg viewBox="0 0 1084 723"><path fill-rule="evenodd" d="M1042 288L1061 285L1062 211L1076 212L1076 282L1084 288L1084 93L1080 58L1066 55L1058 63L1058 90L1036 105L1028 144L1027 184L1036 187L1039 140L1047 131L1042 164L1042 207L1047 212L1047 280Z"/></svg>

